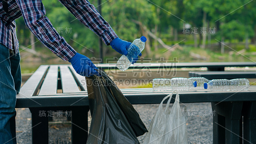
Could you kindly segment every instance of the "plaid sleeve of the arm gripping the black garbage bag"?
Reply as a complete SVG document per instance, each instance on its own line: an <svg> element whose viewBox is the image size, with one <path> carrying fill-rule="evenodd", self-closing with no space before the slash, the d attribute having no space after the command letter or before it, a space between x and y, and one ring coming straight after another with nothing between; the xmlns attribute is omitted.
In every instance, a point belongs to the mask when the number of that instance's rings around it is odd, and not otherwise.
<svg viewBox="0 0 256 144"><path fill-rule="evenodd" d="M44 16L45 8L41 0L16 0L26 26L54 54L62 60L69 60L76 51L53 28L51 21Z"/></svg>

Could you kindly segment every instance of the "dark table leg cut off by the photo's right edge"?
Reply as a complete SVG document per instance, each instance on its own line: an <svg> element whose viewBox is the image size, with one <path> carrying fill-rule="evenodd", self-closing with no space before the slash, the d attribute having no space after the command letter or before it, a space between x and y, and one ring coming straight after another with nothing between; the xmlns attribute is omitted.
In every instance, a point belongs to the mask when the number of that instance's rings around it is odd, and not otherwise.
<svg viewBox="0 0 256 144"><path fill-rule="evenodd" d="M244 144L256 143L256 102L244 102Z"/></svg>

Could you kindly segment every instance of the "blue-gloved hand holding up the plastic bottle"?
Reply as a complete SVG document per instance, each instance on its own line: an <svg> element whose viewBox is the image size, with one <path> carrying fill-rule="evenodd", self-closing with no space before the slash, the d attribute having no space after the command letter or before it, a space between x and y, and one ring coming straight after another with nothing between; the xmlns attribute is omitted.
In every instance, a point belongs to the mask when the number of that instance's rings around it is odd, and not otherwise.
<svg viewBox="0 0 256 144"><path fill-rule="evenodd" d="M114 50L116 50L116 52L119 52L120 54L124 54L124 55L128 54L127 49L129 48L129 46L131 44L132 44L131 42L124 41L124 40L120 39L119 37L115 38L112 42L110 42L111 47ZM140 53L139 56L141 56L141 55L142 54ZM137 60L138 60L138 57L134 58L132 64L136 63Z"/></svg>

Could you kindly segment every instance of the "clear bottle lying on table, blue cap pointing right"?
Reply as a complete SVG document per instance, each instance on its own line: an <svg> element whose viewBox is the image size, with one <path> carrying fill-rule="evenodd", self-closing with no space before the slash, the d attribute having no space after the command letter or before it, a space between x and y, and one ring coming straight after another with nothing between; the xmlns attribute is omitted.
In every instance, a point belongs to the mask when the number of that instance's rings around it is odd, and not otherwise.
<svg viewBox="0 0 256 144"><path fill-rule="evenodd" d="M153 79L152 83L154 91L189 90L196 87L196 81L182 77L172 79L157 78Z"/></svg>

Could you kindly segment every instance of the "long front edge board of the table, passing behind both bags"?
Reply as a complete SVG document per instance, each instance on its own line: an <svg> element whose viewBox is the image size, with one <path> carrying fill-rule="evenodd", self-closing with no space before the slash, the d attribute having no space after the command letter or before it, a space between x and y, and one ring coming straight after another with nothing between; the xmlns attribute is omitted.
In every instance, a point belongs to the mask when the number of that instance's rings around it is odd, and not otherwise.
<svg viewBox="0 0 256 144"><path fill-rule="evenodd" d="M220 102L220 101L255 101L256 97L256 87L252 86L254 89L250 91L243 92L179 92L181 103L194 103L194 102ZM170 92L165 93L127 93L124 96L129 100L131 104L159 104L163 98L170 94ZM171 100L174 102L175 94ZM88 106L88 97L84 95L53 95L53 96L34 96L31 99L27 98L17 98L16 108L28 108L28 107L38 107L38 104L31 102L40 101L41 107L70 107L72 106ZM167 101L167 100L166 100ZM164 103L166 103L166 101ZM40 107L40 106L39 106Z"/></svg>

